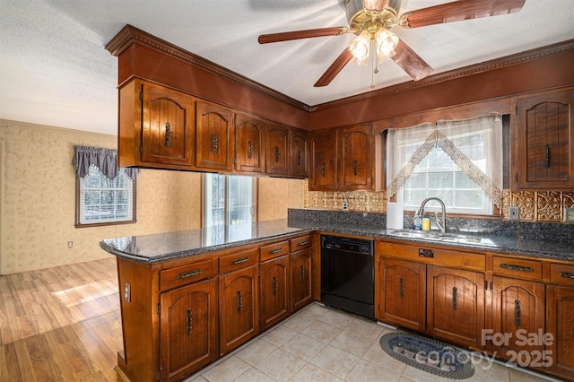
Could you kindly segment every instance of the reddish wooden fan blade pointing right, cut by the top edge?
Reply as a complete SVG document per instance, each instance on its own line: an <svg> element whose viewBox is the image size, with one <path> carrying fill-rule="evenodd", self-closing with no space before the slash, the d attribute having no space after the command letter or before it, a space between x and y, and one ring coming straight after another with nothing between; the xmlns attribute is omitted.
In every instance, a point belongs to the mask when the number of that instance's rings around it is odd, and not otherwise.
<svg viewBox="0 0 574 382"><path fill-rule="evenodd" d="M525 2L526 0L459 0L405 13L401 25L406 28L418 28L516 13L522 9Z"/></svg>

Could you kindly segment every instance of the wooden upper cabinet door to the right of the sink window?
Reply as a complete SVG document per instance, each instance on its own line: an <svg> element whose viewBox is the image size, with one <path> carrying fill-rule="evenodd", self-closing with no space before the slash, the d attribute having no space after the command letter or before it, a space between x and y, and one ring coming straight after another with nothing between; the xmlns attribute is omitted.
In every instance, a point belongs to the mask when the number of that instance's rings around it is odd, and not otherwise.
<svg viewBox="0 0 574 382"><path fill-rule="evenodd" d="M517 188L574 187L574 91L517 101Z"/></svg>

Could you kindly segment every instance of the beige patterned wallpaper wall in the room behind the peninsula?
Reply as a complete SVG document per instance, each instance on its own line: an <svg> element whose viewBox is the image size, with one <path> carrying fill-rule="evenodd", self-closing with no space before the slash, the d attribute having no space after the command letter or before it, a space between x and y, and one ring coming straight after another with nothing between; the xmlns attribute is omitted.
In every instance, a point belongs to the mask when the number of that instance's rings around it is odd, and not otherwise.
<svg viewBox="0 0 574 382"><path fill-rule="evenodd" d="M115 135L0 119L0 143L0 274L110 256L100 248L101 239L201 227L201 174L157 169L143 169L137 178L135 224L74 227L74 145L115 149ZM288 207L302 207L302 180L260 180L260 220L286 219Z"/></svg>

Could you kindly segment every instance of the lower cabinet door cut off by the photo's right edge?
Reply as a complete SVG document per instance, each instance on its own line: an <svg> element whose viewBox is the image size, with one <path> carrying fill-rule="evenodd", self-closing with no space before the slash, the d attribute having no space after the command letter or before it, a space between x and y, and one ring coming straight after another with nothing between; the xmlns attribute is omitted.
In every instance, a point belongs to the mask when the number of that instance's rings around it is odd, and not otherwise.
<svg viewBox="0 0 574 382"><path fill-rule="evenodd" d="M550 361L552 374L574 376L574 288L549 285L546 299L546 332L552 334L542 362Z"/></svg>

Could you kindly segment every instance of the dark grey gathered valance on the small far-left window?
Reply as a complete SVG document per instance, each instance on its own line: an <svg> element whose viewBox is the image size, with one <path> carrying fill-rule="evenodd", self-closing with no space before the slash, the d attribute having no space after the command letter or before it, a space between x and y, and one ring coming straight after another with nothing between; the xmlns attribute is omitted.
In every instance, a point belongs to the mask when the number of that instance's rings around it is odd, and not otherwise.
<svg viewBox="0 0 574 382"><path fill-rule="evenodd" d="M96 166L102 174L110 179L117 177L119 169L117 168L116 150L87 146L74 146L74 149L73 164L76 177L83 178L88 175L88 169L91 165ZM135 179L135 176L140 173L140 169L126 167L124 172L129 178Z"/></svg>

